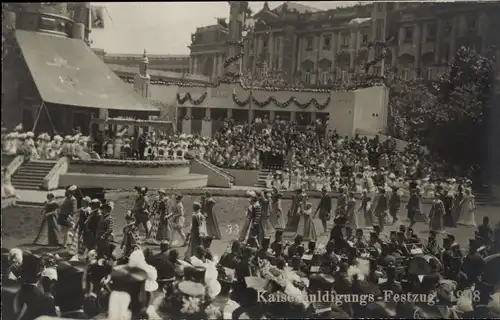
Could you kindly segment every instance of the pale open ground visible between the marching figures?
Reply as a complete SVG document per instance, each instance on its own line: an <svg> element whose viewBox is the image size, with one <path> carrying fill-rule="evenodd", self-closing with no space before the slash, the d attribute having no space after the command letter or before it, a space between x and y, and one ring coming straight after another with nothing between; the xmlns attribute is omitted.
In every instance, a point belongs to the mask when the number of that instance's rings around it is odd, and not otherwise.
<svg viewBox="0 0 500 320"><path fill-rule="evenodd" d="M41 194L45 194L42 192ZM117 226L115 230L115 234L118 240L121 240L122 237L122 229L124 226L124 215L127 210L129 210L134 202L135 194L133 192L114 192L108 193L107 196L110 200L115 202L115 210L113 215L117 220ZM186 212L188 213L188 219L190 218L190 207L193 201L198 201L198 196L189 196L186 195L184 197L184 204L186 208ZM221 233L223 236L223 240L215 241L213 244L213 251L216 254L221 254L229 245L229 243L237 237L237 230L239 226L242 225L246 207L248 205L248 200L243 197L216 197L217 204L215 206L215 211L219 218ZM312 199L313 205L316 206L318 203L318 199ZM284 211L288 211L290 208L291 201L284 200L283 201L283 209ZM334 201L335 205L335 201ZM424 210L428 212L429 206L424 205ZM18 206L18 207L10 207L2 210L2 247L3 248L12 248L15 246L21 246L24 248L29 248L31 250L37 251L49 251L55 250L55 248L41 248L41 247L33 247L31 242L35 236L35 233L38 231L40 226L40 222L42 219L42 213L40 207L34 206ZM479 224L482 221L484 216L489 216L492 220L492 224L496 224L500 220L500 215L498 215L498 208L481 206L478 207L476 211L476 222ZM386 229L386 232L390 230L397 229L401 223L404 222L404 212L400 212L400 222L396 223L396 225L391 226ZM322 233L322 227L319 220L315 221L316 230L318 234ZM187 230L186 230L187 231ZM428 234L428 226L423 223L418 223L415 226L415 231L419 233L421 237L426 238ZM459 227L459 228L451 228L446 230L454 234L461 244L463 248L467 247L468 238L472 237L475 231L475 228L472 227ZM288 239L293 238L293 234L285 234L285 237ZM326 242L326 235L322 235L318 239L319 242ZM184 248L179 248L179 250L183 253Z"/></svg>

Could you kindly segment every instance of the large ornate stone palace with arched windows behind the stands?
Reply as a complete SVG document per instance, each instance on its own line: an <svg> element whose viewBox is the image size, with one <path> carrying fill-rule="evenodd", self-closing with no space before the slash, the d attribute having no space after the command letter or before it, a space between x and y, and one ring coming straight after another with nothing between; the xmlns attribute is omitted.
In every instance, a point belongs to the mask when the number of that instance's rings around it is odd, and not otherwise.
<svg viewBox="0 0 500 320"><path fill-rule="evenodd" d="M265 69L290 84L348 80L380 56L382 48L370 45L375 42L388 50L370 72L391 69L407 79L437 78L462 45L491 56L500 47L494 31L500 30L498 2L375 2L327 11L293 2L270 10L266 2L253 19L243 72L256 75ZM192 35L190 72L222 75L228 37L224 21L198 28Z"/></svg>

